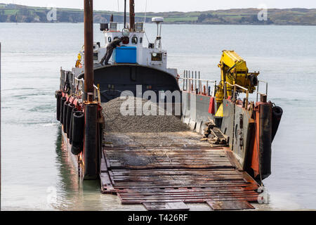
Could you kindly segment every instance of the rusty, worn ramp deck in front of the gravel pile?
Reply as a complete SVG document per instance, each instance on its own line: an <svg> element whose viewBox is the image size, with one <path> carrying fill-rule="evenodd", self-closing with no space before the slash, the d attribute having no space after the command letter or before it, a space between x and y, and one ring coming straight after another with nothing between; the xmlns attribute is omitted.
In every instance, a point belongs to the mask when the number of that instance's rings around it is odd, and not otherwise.
<svg viewBox="0 0 316 225"><path fill-rule="evenodd" d="M206 203L213 210L254 209L258 184L239 168L232 152L199 141L191 131L107 133L100 180L103 193L121 204L147 210L189 210Z"/></svg>

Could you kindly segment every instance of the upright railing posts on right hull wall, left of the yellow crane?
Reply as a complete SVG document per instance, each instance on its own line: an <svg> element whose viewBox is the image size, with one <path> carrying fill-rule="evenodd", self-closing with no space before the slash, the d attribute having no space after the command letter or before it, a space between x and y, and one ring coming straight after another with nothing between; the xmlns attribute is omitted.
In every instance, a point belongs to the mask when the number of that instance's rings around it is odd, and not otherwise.
<svg viewBox="0 0 316 225"><path fill-rule="evenodd" d="M195 94L202 94L206 96L215 96L216 81L211 79L200 79L200 72L185 70L183 73L183 91L190 91ZM211 91L211 85L213 89Z"/></svg>

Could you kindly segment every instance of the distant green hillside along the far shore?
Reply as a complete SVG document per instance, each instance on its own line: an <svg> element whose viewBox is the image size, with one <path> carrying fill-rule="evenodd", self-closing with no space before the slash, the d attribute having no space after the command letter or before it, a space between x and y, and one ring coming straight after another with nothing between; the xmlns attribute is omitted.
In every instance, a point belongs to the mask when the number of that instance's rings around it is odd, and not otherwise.
<svg viewBox="0 0 316 225"><path fill-rule="evenodd" d="M57 8L57 20L48 21L50 10L41 7L0 4L0 23L82 23L84 13L80 9ZM257 8L229 9L204 12L147 13L146 22L154 16L163 16L165 23L215 24L215 25L316 25L316 9L289 8L268 9L268 20L258 20ZM124 21L123 13L94 11L94 23L106 23L110 15L114 20ZM129 17L127 18L129 20ZM144 20L144 13L136 13L136 22Z"/></svg>

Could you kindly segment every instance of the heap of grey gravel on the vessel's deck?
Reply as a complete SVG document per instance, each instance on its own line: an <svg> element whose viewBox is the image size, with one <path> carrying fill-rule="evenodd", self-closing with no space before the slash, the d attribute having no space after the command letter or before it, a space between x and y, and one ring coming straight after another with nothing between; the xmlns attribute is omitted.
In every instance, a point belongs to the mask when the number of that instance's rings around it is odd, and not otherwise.
<svg viewBox="0 0 316 225"><path fill-rule="evenodd" d="M141 104L136 104L137 99L138 102L141 101ZM181 122L178 117L174 115L166 115L166 110L164 109L160 109L164 110L164 115L158 115L158 113L154 115L144 115L144 112L141 110L144 104L146 104L145 108L159 112L159 107L156 103L135 97L129 97L128 101L129 105L126 104L126 100L116 98L102 104L103 116L105 117L105 131L121 133L147 133L189 130L189 127ZM129 110L129 114L133 112L133 115L122 115L121 108ZM136 115L136 111L142 112L142 114Z"/></svg>

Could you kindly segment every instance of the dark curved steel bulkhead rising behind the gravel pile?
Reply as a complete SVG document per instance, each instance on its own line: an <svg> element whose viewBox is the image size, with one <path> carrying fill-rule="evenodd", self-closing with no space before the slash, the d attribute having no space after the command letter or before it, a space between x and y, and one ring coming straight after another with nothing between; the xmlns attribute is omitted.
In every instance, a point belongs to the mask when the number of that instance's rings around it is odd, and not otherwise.
<svg viewBox="0 0 316 225"><path fill-rule="evenodd" d="M84 78L84 74L77 78ZM159 91L180 91L176 77L173 75L135 64L107 65L95 68L94 83L100 87L102 103L119 97L123 91L131 91L136 96L136 85L141 85L142 96L145 91L154 91L157 96L159 96Z"/></svg>

